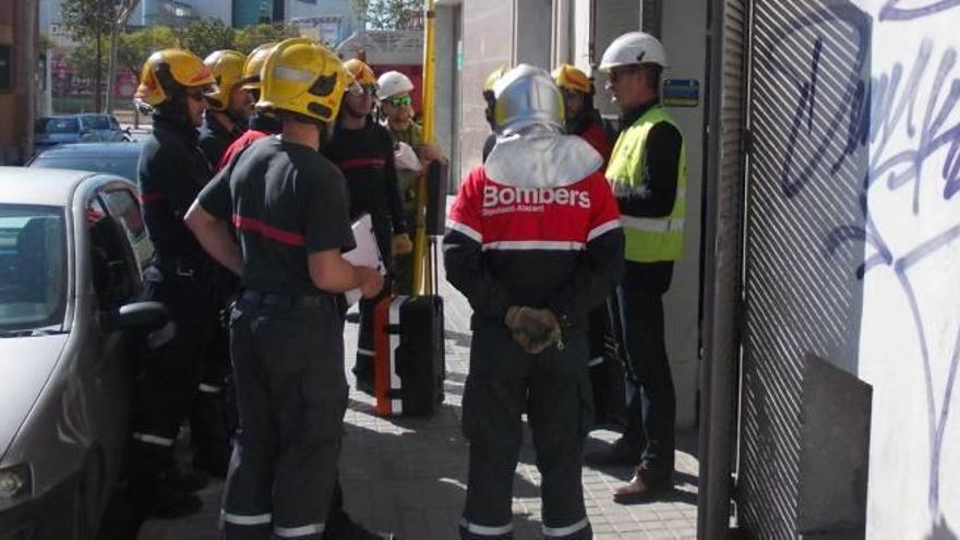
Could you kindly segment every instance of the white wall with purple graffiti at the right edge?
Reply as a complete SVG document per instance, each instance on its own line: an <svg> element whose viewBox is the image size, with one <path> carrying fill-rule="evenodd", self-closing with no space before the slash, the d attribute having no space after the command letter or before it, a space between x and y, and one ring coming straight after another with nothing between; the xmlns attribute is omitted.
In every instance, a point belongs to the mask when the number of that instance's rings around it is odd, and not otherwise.
<svg viewBox="0 0 960 540"><path fill-rule="evenodd" d="M864 260L879 245L890 254L863 279L859 375L874 387L867 538L960 533L960 105L956 89L960 85L960 7L935 3L946 9L859 2L873 19ZM887 168L895 156L908 160ZM891 184L891 173L904 181Z"/></svg>

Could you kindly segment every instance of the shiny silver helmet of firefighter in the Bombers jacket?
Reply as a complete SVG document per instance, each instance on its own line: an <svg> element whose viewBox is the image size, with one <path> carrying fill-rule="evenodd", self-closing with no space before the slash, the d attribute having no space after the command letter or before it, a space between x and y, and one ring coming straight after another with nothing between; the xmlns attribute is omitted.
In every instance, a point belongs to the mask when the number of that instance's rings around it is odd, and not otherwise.
<svg viewBox="0 0 960 540"><path fill-rule="evenodd" d="M494 130L511 135L530 125L563 129L563 96L550 73L523 63L493 85Z"/></svg>

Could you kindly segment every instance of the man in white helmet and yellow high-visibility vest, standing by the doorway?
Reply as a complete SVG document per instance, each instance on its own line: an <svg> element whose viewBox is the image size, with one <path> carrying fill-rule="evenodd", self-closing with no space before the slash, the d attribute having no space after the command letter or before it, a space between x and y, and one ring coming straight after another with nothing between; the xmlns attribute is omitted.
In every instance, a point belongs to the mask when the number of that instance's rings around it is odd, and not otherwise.
<svg viewBox="0 0 960 540"><path fill-rule="evenodd" d="M676 398L662 297L683 253L686 157L683 134L660 104L667 65L663 46L643 32L617 37L600 62L623 113L607 178L623 215L626 268L620 303L624 328L629 328L624 332L626 352L640 388L629 404L624 435L587 459L637 466L631 483L614 493L624 502L673 489Z"/></svg>

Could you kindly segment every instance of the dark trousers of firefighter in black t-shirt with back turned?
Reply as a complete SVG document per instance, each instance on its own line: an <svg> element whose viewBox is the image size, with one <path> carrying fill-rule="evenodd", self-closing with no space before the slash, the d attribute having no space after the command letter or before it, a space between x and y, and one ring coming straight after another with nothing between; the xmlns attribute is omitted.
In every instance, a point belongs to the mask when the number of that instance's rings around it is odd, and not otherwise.
<svg viewBox="0 0 960 540"><path fill-rule="evenodd" d="M320 540L336 499L347 408L340 308L241 297L230 327L240 430L223 538Z"/></svg>

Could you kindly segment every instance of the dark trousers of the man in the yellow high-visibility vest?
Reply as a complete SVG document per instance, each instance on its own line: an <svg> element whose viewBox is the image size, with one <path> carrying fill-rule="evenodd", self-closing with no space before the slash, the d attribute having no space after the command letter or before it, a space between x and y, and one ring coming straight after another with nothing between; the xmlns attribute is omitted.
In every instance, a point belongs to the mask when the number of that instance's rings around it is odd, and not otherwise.
<svg viewBox="0 0 960 540"><path fill-rule="evenodd" d="M643 448L641 463L673 470L676 396L663 339L663 293L673 263L627 261L620 291L623 335L639 388L628 405L624 440Z"/></svg>

